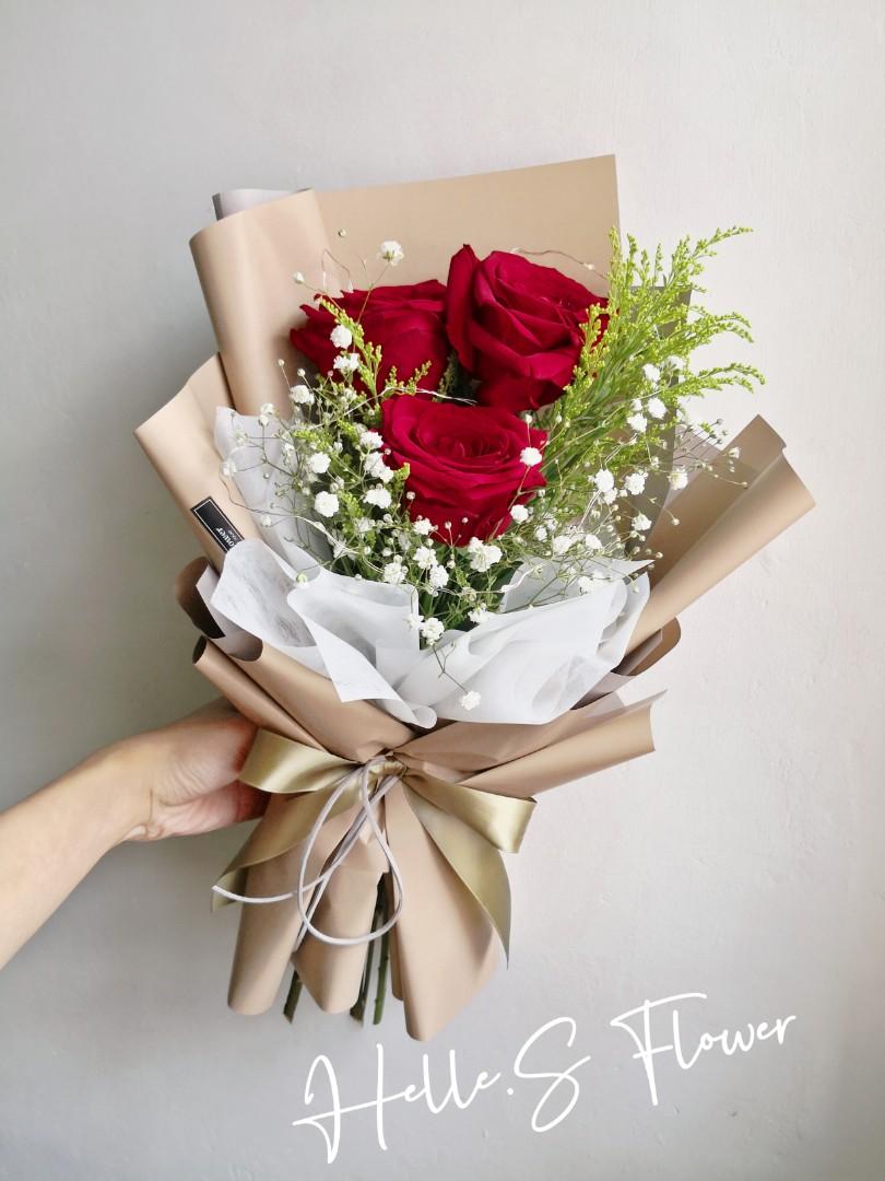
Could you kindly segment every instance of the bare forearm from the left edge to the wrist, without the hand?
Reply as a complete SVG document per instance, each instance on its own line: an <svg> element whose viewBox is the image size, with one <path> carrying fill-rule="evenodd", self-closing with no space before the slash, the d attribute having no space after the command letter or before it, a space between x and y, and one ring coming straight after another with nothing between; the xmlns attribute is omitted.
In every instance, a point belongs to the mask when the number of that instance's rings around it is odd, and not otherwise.
<svg viewBox="0 0 885 1181"><path fill-rule="evenodd" d="M0 967L144 815L140 769L125 744L0 815Z"/></svg>

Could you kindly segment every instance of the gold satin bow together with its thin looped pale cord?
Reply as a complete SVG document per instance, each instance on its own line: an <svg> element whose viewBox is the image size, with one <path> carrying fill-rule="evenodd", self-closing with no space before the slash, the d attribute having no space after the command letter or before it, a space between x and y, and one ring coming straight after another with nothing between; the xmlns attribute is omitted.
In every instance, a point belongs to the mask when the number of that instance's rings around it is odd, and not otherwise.
<svg viewBox="0 0 885 1181"><path fill-rule="evenodd" d="M438 768L442 775L445 769ZM234 857L214 887L218 905L225 901L262 903L295 899L301 926L295 950L308 934L337 946L368 944L395 926L402 909L404 883L384 830L385 796L398 784L415 816L458 877L483 907L510 948L510 882L500 853L517 853L529 824L533 800L480 791L465 783L430 774L404 752L378 755L366 763L350 763L326 750L260 730L240 772L243 783L275 796L290 797L277 809L274 823L262 822ZM323 824L356 807L356 816L327 859L319 875L307 881L307 866ZM368 828L379 843L395 882L395 907L387 921L361 935L336 937L312 922L320 900L358 840ZM244 893L247 872L303 842L299 880L294 890L264 898ZM304 894L312 893L304 905Z"/></svg>

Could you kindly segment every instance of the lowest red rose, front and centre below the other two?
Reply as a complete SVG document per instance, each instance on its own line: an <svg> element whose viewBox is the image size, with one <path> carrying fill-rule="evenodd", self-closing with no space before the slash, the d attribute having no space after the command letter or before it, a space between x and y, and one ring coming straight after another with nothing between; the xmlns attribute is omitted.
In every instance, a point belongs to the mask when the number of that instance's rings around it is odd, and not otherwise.
<svg viewBox="0 0 885 1181"><path fill-rule="evenodd" d="M520 454L543 450L546 432L507 410L407 394L387 398L381 410L388 463L409 465L412 518L432 521L439 541L466 546L471 537L503 533L511 507L545 484L540 466L526 466Z"/></svg>

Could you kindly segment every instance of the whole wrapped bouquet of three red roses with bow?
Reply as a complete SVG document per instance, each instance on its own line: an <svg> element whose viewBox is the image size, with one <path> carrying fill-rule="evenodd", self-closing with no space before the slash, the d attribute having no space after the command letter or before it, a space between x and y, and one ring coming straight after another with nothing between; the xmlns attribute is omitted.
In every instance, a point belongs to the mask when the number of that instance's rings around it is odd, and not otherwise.
<svg viewBox="0 0 885 1181"><path fill-rule="evenodd" d="M360 1019L374 988L379 1019L389 976L430 1038L507 952L536 797L653 749L654 698L618 692L812 505L762 419L726 442L696 410L762 380L697 360L750 339L699 301L743 230L622 243L611 157L216 207L219 355L138 437L205 552L196 665L271 794L215 886L243 905L230 1004L291 964L289 1017L304 986Z"/></svg>

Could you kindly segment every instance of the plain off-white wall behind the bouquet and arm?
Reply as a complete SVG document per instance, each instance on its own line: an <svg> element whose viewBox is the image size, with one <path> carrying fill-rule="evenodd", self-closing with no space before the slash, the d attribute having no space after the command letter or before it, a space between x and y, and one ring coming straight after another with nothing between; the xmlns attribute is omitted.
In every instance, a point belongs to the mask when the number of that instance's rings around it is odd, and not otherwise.
<svg viewBox="0 0 885 1181"><path fill-rule="evenodd" d="M131 438L212 350L186 248L223 188L348 185L615 151L642 240L733 221L710 274L817 511L688 612L649 677L658 752L544 801L512 967L431 1046L499 1069L571 1014L576 1110L539 1087L346 1123L329 1175L885 1173L881 1111L883 14L873 2L4 0L2 801L208 697L169 586L194 546ZM367 1097L374 1036L224 1005L236 833L116 850L0 976L0 1177L320 1177L315 1055ZM878 855L877 855L878 854ZM660 1068L609 1019L784 1046ZM422 1048L395 1007L391 1085Z"/></svg>

